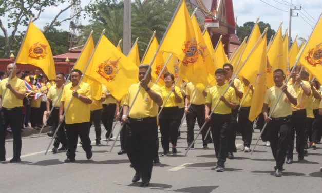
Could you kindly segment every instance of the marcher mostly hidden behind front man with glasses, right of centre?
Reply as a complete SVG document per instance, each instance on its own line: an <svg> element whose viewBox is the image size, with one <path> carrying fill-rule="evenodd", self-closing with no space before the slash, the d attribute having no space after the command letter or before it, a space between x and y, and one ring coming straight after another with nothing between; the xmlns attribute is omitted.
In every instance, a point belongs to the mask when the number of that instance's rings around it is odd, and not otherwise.
<svg viewBox="0 0 322 193"><path fill-rule="evenodd" d="M234 72L234 67L233 65L226 63L222 66L224 70L227 71L227 76L226 79L230 83L232 81L232 75ZM231 87L235 90L236 98L237 98L237 108L232 110L232 121L229 126L229 131L228 131L228 141L227 141L227 154L229 159L234 159L234 154L233 152L237 152L237 148L235 145L235 140L236 140L236 132L238 130L238 122L237 122L237 116L238 116L238 108L239 108L239 101L242 99L243 96L243 87L241 84L241 81L239 79L234 79L233 84Z"/></svg>

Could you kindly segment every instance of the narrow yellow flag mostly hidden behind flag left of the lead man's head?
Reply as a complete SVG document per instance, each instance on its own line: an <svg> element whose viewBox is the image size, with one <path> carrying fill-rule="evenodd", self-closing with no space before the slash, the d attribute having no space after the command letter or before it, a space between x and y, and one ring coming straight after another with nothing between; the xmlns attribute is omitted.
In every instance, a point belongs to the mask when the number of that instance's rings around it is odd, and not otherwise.
<svg viewBox="0 0 322 193"><path fill-rule="evenodd" d="M90 59L91 54L94 51L94 42L93 37L90 35L88 37L87 43L84 45L83 50L77 60L77 63L75 64L74 68L79 69L82 72L84 72L85 67ZM96 100L101 99L102 95L102 85L98 81L90 78L87 75L84 75L83 82L88 83L90 87L92 88L92 96Z"/></svg>

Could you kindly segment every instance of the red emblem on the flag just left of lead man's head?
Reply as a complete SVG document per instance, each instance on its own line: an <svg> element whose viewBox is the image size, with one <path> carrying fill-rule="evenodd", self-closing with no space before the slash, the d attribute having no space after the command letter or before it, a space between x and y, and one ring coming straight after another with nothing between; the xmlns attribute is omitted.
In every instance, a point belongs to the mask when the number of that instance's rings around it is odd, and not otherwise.
<svg viewBox="0 0 322 193"><path fill-rule="evenodd" d="M119 60L116 61L111 61L111 60L106 60L103 63L99 65L99 70L96 71L99 73L104 79L106 79L108 82L113 81L116 77L116 74L119 73Z"/></svg>

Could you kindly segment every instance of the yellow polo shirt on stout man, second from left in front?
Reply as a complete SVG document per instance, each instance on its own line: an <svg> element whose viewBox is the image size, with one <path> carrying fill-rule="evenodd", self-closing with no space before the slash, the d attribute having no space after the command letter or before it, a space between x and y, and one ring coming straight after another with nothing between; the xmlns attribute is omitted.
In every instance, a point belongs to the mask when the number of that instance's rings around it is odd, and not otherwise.
<svg viewBox="0 0 322 193"><path fill-rule="evenodd" d="M65 122L66 124L89 122L90 104L84 103L76 97L72 97L74 90L75 88L72 86L72 83L64 86L61 102L65 102L65 110L67 109L69 101L72 99L69 109L66 112ZM87 83L82 82L77 92L82 96L87 96L89 99L92 99L91 88Z"/></svg>

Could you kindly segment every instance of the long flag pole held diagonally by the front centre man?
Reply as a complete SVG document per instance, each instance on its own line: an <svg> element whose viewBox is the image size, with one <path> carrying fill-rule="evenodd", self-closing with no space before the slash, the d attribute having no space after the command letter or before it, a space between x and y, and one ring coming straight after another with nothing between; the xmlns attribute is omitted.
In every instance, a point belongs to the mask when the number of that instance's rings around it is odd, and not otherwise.
<svg viewBox="0 0 322 193"><path fill-rule="evenodd" d="M175 19L176 15L177 15L177 13L178 13L178 11L179 11L179 8L180 8L180 6L181 6L182 2L183 2L183 0L180 0L180 1L179 1L178 5L177 5L177 8L176 8L176 10L175 10L175 12L174 12L174 14L173 14L173 16L172 16L172 18L171 18L171 21L169 22L169 25L168 25L168 27L166 28L166 30L165 30L165 32L164 32L164 35L163 35L162 40L161 40L161 42L160 42L160 45L159 45L159 47L158 47L158 49L157 49L156 53L154 54L153 59L152 59L152 61L151 61L150 65L149 65L148 69L146 70L147 72L149 72L149 71L151 70L151 67L152 67L152 65L153 65L153 62L155 61L155 59L156 59L156 57L157 57L157 54L158 54L158 52L160 51L161 45L162 45L162 43L163 43L163 41L164 41L164 38L165 38L166 34L168 33L168 31L169 31L169 29L170 29L170 27L171 27L171 25L172 25L172 23L173 23L173 21L174 21L174 19ZM148 75L148 74L149 74L149 73L145 73L145 75L144 75L144 78L143 78L143 79L146 79L146 77L147 77L147 75ZM134 97L134 99L133 99L133 101L132 101L132 103L131 103L131 105L130 105L130 107L129 107L128 111L127 111L126 118L128 117L128 114L130 113L130 111L131 111L131 109L132 109L132 107L133 107L133 105L134 105L134 103L135 103L136 99L138 98L138 95L139 95L139 93L140 93L140 90L141 90L141 89L142 89L142 86L140 85L140 86L139 86L139 89L138 89L138 92L136 93L136 95L135 95L135 97ZM124 115L125 115L125 114L124 114ZM119 135L120 135L120 132L118 133L118 135L117 135L117 137L116 137L116 139L115 139L115 141L114 141L114 143L113 143L113 145L112 145L112 147L111 147L111 149L110 149L110 152L111 152L111 150L113 149L113 147L114 147L114 145L115 145L115 143L116 143L116 141L117 141L117 139L118 139Z"/></svg>

